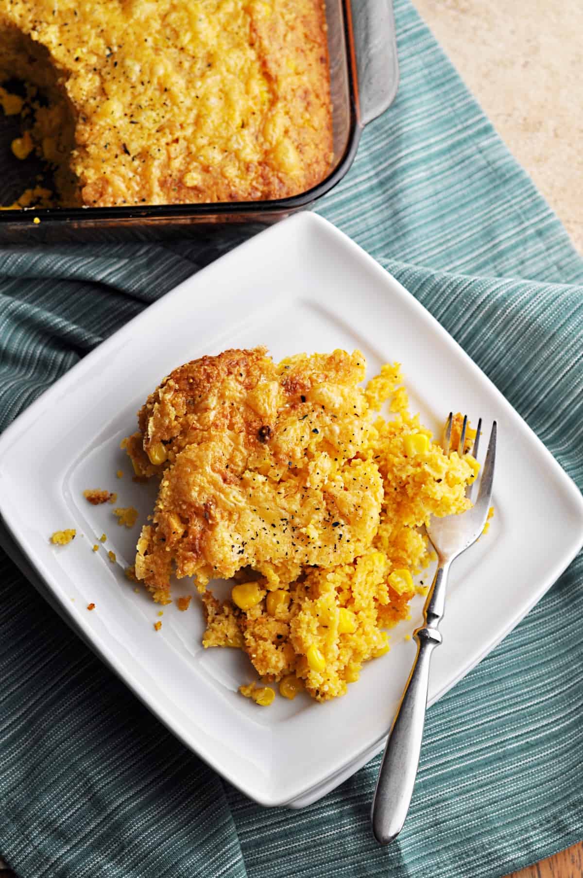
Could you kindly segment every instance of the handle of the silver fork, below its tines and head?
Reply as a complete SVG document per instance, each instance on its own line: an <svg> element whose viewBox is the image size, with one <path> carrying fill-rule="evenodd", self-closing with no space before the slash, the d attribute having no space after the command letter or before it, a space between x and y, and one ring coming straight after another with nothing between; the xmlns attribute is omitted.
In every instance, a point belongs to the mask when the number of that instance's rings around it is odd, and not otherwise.
<svg viewBox="0 0 583 878"><path fill-rule="evenodd" d="M414 632L417 655L385 745L372 800L372 831L378 843L388 845L403 828L419 757L429 683L431 655L442 642L437 628L443 616L449 564L438 566L425 604L425 624Z"/></svg>

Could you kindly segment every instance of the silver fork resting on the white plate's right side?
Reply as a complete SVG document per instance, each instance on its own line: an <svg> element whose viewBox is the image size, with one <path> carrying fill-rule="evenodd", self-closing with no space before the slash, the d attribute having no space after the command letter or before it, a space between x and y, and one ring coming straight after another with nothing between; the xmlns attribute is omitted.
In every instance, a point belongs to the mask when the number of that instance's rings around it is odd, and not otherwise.
<svg viewBox="0 0 583 878"><path fill-rule="evenodd" d="M450 453L451 423L450 414L446 422L443 443L446 454ZM481 423L480 419L471 452L474 457L478 454ZM464 418L457 448L460 456L464 454L466 428L467 417ZM428 536L437 553L438 564L423 609L424 624L414 632L417 656L386 742L377 788L372 800L372 831L381 845L388 845L397 838L407 817L421 753L427 709L429 665L435 646L439 646L442 642L439 623L443 618L450 565L476 542L484 529L492 499L495 458L496 421L493 421L475 505L461 515L446 515L443 518L432 516L428 524ZM466 491L469 497L472 487L473 485L468 486Z"/></svg>

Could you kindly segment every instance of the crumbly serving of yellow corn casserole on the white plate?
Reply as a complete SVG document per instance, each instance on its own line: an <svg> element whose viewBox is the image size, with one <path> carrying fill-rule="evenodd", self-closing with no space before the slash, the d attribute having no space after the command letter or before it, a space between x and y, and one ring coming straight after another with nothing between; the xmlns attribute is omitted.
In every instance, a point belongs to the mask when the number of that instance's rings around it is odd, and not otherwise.
<svg viewBox="0 0 583 878"><path fill-rule="evenodd" d="M241 692L259 704L274 681L288 698L344 694L407 617L431 556L422 525L470 506L473 457L444 455L408 413L398 364L363 387L365 367L357 350L203 356L164 378L122 443L160 481L133 575L161 603L171 575L194 577L203 644L248 654L262 684ZM227 601L212 579L235 580Z"/></svg>

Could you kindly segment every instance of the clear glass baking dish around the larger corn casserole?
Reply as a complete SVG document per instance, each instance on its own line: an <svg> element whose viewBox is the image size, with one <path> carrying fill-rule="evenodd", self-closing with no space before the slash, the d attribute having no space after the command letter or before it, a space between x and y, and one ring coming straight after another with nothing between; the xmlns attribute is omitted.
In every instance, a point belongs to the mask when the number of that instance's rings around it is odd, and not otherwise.
<svg viewBox="0 0 583 878"><path fill-rule="evenodd" d="M313 205L349 170L363 127L385 112L399 82L392 0L326 0L326 15L334 162L320 184L270 201L3 210L0 242L148 240L208 234L217 227L241 231L241 225L263 227ZM10 117L4 122L10 123ZM3 126L4 133L9 127ZM0 179L9 180L14 191L21 166L6 157L10 150L2 154ZM0 197L3 188L0 184Z"/></svg>

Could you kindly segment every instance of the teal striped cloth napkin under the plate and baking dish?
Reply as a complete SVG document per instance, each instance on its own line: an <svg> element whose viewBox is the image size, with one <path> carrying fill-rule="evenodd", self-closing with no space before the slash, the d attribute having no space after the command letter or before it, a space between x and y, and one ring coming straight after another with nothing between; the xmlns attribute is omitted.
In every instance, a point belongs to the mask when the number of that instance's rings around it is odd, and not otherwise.
<svg viewBox="0 0 583 878"><path fill-rule="evenodd" d="M397 100L317 209L435 314L580 486L583 261L408 0L396 16ZM227 246L4 247L0 426ZM388 848L369 826L378 759L306 810L264 810L172 738L4 556L0 574L0 853L21 878L495 878L583 837L580 557L429 710ZM520 575L517 559L508 588Z"/></svg>

